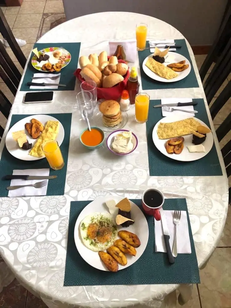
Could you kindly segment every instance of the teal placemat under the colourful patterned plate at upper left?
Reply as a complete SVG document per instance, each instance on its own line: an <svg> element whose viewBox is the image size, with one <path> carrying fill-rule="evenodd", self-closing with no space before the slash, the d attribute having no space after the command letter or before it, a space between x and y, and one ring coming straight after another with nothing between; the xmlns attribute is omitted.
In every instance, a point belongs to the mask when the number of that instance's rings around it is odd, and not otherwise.
<svg viewBox="0 0 231 308"><path fill-rule="evenodd" d="M76 77L73 75L74 71L77 69L78 61L79 61L79 50L80 50L81 43L35 43L34 48L38 48L38 50L42 50L43 48L47 47L63 47L71 54L71 61L70 63L64 67L60 73L60 81L59 83L66 84L66 87L58 87L58 89L30 89L30 86L27 86L26 83L32 81L32 77L34 73L42 73L38 70L36 70L31 65L31 58L33 57L33 52L30 55L30 60L28 62L26 73L24 75L21 89L20 91L70 91L75 90L75 80ZM55 73L53 73L55 74Z"/></svg>

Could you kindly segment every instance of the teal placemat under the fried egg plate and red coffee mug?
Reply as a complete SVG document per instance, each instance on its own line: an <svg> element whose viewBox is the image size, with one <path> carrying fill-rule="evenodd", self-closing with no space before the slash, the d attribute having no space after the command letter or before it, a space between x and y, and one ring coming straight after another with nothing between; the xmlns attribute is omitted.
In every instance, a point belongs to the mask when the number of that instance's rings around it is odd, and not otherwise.
<svg viewBox="0 0 231 308"><path fill-rule="evenodd" d="M142 209L141 200L135 199L131 201ZM192 253L178 254L175 263L170 265L167 253L155 252L154 218L145 215L149 229L147 247L134 264L117 273L95 269L82 259L76 249L74 241L75 222L80 212L90 202L71 202L64 286L200 283L197 257L185 199L165 199L163 208L165 210L187 211Z"/></svg>

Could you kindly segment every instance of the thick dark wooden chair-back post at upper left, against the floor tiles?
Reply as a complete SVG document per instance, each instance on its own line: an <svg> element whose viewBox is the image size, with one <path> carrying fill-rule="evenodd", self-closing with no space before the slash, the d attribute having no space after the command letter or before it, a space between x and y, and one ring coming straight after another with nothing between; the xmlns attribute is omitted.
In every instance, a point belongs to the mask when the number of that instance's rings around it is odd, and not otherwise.
<svg viewBox="0 0 231 308"><path fill-rule="evenodd" d="M18 43L14 38L14 34L12 33L1 8L0 8L0 30L2 36L7 40L7 43L10 45L10 48L12 49L15 57L18 59L18 62L20 63L22 68L24 68L26 65L26 57L24 56L21 48L18 46Z"/></svg>

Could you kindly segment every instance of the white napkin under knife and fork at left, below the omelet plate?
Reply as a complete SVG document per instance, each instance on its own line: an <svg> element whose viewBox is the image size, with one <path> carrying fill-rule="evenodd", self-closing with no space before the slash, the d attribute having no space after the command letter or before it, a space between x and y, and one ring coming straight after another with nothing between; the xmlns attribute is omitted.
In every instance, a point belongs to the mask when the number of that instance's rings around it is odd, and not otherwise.
<svg viewBox="0 0 231 308"><path fill-rule="evenodd" d="M13 170L13 175L34 175L34 176L49 176L50 169L25 169L25 170ZM14 185L30 185L44 180L11 180L10 186ZM47 180L48 184L48 180ZM21 196L46 196L47 184L41 188L34 188L33 186L18 188L9 190L8 197L21 197Z"/></svg>

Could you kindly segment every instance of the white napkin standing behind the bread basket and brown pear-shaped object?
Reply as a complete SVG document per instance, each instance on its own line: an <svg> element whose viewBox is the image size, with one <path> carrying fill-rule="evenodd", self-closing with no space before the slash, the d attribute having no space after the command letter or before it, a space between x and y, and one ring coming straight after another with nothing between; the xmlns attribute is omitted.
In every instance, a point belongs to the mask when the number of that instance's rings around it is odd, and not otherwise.
<svg viewBox="0 0 231 308"><path fill-rule="evenodd" d="M117 45L123 46L127 61L136 62L137 50L136 50L136 40L135 39L109 42L109 55L114 55Z"/></svg>

